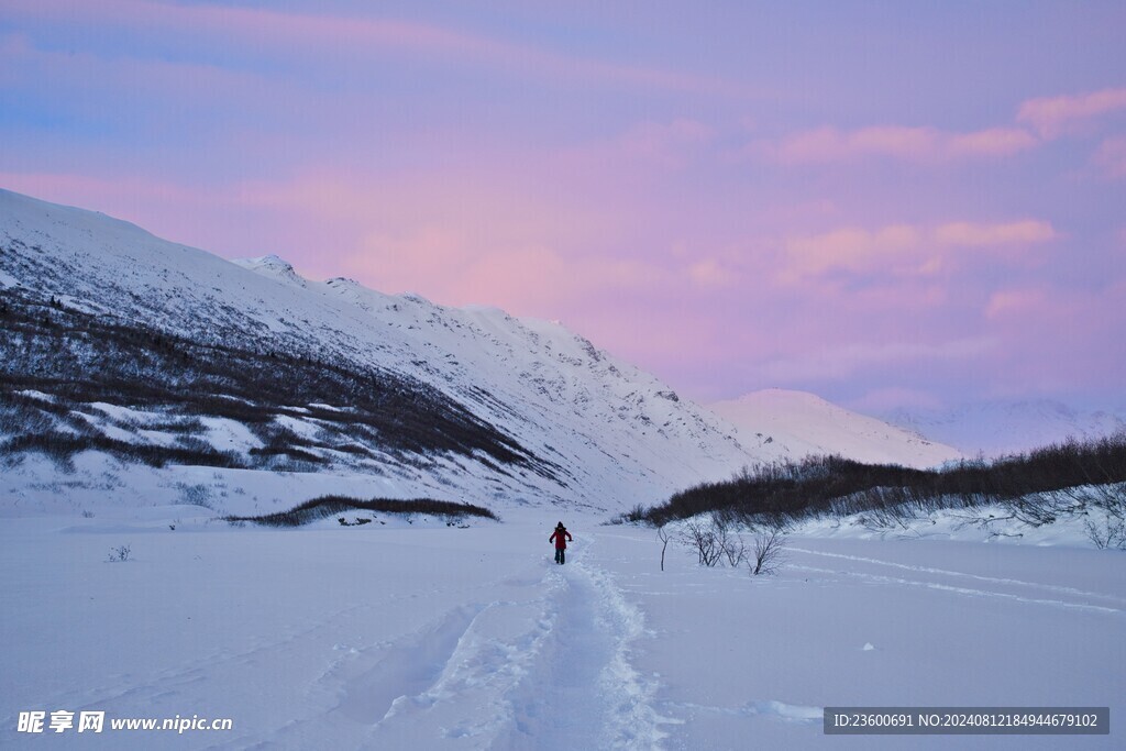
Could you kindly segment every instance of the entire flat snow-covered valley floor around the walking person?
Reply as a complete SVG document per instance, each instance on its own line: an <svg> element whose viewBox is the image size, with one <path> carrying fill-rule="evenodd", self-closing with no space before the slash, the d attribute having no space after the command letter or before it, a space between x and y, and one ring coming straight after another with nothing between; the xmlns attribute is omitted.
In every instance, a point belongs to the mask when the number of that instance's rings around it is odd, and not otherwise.
<svg viewBox="0 0 1126 751"><path fill-rule="evenodd" d="M197 506L5 518L0 746L1123 748L1119 552L822 525L776 576L676 545L661 572L652 529L497 510L297 530ZM823 735L844 705L1109 705L1112 734ZM21 734L30 710L106 728ZM194 715L233 728L109 728Z"/></svg>

